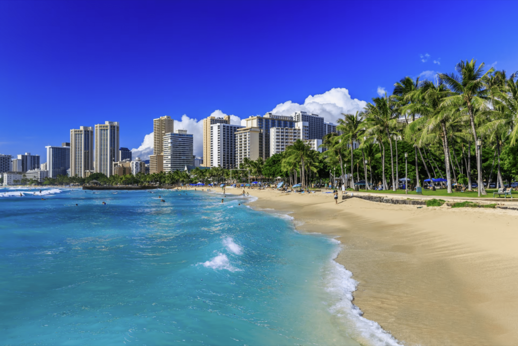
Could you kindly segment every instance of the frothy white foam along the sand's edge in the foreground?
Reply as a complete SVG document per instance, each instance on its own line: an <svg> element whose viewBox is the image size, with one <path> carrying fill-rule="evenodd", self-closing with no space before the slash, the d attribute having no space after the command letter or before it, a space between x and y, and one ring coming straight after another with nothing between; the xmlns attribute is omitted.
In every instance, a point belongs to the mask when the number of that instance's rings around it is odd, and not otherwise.
<svg viewBox="0 0 518 346"><path fill-rule="evenodd" d="M333 242L337 241L333 240ZM352 278L352 272L334 261L339 251L336 251L324 270L326 291L340 299L329 308L329 311L338 316L341 322L349 327L349 330L354 330L352 336L362 344L401 345L378 323L364 318L363 312L353 304L353 292L356 291L358 282Z"/></svg>

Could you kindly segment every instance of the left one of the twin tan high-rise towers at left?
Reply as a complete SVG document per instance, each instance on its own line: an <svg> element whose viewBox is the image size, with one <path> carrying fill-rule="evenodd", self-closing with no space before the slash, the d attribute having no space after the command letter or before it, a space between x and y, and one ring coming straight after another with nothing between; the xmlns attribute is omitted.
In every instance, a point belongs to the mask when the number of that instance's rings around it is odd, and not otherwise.
<svg viewBox="0 0 518 346"><path fill-rule="evenodd" d="M70 175L86 178L94 170L93 127L80 126L70 130Z"/></svg>

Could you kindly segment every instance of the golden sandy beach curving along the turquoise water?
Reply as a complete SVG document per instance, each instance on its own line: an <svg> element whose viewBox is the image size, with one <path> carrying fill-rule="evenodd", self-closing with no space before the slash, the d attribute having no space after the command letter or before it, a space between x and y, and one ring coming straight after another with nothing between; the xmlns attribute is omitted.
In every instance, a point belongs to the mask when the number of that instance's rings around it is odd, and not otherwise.
<svg viewBox="0 0 518 346"><path fill-rule="evenodd" d="M247 192L253 208L340 240L336 261L359 282L354 304L401 343L518 344L518 211Z"/></svg>

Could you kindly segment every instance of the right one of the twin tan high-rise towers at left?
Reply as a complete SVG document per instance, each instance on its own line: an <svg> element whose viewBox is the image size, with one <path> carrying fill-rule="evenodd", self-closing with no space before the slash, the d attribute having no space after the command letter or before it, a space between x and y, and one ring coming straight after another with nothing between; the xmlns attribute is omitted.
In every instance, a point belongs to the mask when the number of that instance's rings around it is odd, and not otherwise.
<svg viewBox="0 0 518 346"><path fill-rule="evenodd" d="M95 125L95 172L112 175L113 163L119 161L119 122Z"/></svg>

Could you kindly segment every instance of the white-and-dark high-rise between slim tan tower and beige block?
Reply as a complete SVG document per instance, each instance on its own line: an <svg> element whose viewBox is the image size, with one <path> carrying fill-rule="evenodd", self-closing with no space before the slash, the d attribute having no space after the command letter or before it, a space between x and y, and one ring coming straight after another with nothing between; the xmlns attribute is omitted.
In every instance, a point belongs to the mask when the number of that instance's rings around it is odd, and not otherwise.
<svg viewBox="0 0 518 346"><path fill-rule="evenodd" d="M210 125L210 167L235 168L234 133L240 128L243 126L223 123Z"/></svg>

